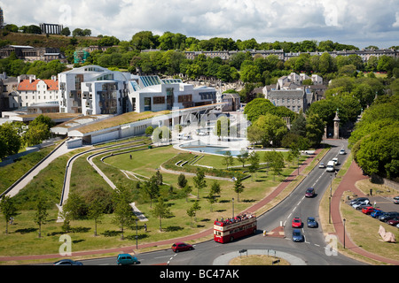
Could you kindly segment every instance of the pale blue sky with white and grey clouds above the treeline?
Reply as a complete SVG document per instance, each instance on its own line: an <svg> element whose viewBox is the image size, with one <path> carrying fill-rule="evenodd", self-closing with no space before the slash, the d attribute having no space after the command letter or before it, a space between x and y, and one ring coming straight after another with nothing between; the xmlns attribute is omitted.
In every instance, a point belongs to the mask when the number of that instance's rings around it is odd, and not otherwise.
<svg viewBox="0 0 399 283"><path fill-rule="evenodd" d="M4 22L89 28L129 41L140 31L234 41L332 40L362 49L399 45L398 0L1 0Z"/></svg>

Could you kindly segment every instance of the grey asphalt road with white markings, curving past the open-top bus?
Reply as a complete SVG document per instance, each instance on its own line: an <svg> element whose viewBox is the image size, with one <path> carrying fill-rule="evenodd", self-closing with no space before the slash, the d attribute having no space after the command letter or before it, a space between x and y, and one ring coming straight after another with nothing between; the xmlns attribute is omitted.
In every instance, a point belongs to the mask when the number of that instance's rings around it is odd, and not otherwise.
<svg viewBox="0 0 399 283"><path fill-rule="evenodd" d="M327 163L332 157L339 157L340 164L343 164L348 155L339 155L340 149L347 148L345 140L329 141L332 149L321 160ZM337 166L340 170L340 165ZM258 233L238 241L227 244L220 244L215 241L205 241L195 245L195 249L188 252L173 253L170 249L137 255L143 265L168 264L168 265L213 265L219 256L237 252L241 249L260 249L265 254L272 254L274 251L284 252L301 259L301 262L309 265L356 265L362 264L356 260L334 253L334 239L326 238L325 234L318 228L308 228L306 218L309 216L318 217L318 207L322 195L330 189L333 173L325 172L325 169L315 167L301 184L293 190L293 193L279 203L275 208L264 213L258 218ZM315 187L317 195L313 198L305 198L305 190L308 187ZM303 242L293 242L291 234L293 228L291 221L293 217L300 217L304 222L301 228L305 236ZM319 222L319 221L318 221ZM262 231L271 231L283 225L286 237L274 238L264 237ZM91 259L83 261L85 265L114 265L115 257L102 259Z"/></svg>

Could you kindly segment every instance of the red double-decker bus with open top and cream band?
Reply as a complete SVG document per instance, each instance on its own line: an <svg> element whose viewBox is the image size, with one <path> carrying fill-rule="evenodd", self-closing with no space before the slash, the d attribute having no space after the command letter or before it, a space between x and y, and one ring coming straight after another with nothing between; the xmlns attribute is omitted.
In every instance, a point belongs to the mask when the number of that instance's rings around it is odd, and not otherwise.
<svg viewBox="0 0 399 283"><path fill-rule="evenodd" d="M256 216L243 213L235 218L215 220L214 240L225 243L256 233Z"/></svg>

